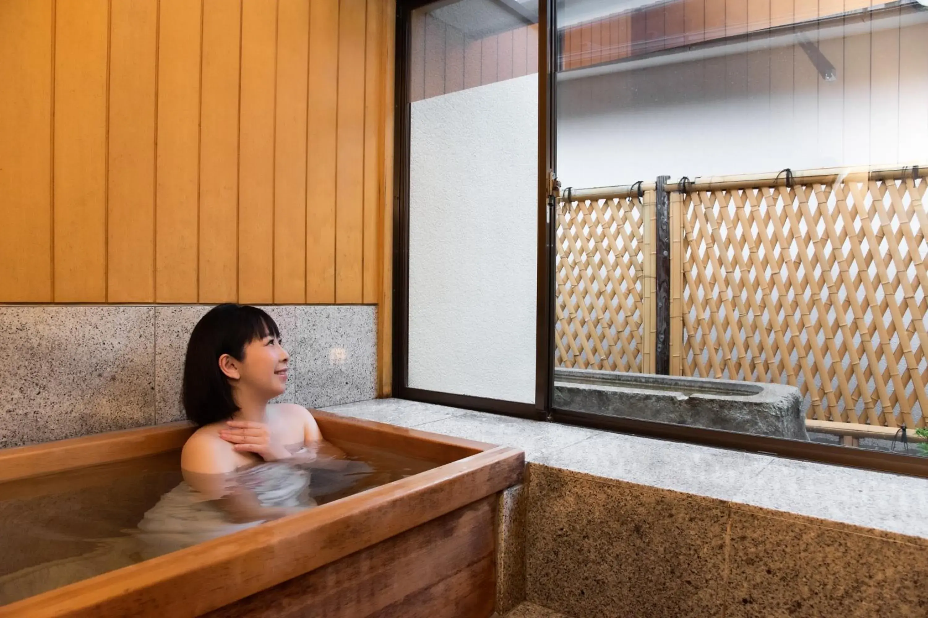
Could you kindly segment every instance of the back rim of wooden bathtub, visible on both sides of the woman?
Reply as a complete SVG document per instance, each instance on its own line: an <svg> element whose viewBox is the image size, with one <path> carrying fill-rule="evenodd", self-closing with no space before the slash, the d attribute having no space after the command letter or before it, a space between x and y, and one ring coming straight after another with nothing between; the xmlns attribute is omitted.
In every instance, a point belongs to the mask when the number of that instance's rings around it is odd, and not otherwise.
<svg viewBox="0 0 928 618"><path fill-rule="evenodd" d="M373 447L402 450L436 463L470 457L494 445L464 438L432 434L386 423L364 421L333 412L311 410L324 436ZM164 423L105 434L56 440L27 447L0 449L0 483L32 476L59 473L75 468L134 460L182 448L194 431L187 421Z"/></svg>

